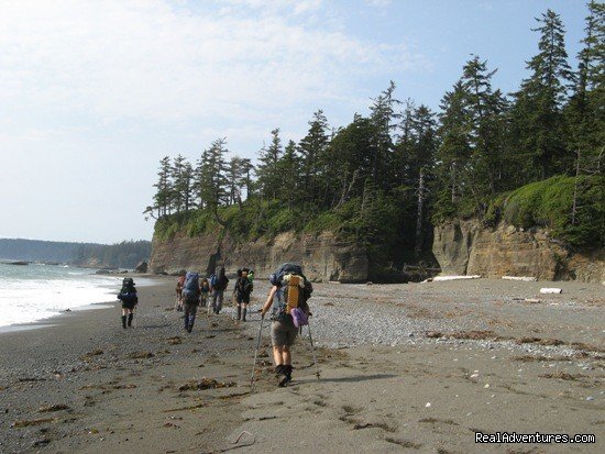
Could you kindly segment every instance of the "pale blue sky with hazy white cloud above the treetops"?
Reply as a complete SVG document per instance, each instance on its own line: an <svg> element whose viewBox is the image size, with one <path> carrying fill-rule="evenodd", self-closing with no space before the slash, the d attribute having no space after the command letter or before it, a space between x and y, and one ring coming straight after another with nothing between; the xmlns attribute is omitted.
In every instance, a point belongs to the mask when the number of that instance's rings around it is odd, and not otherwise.
<svg viewBox="0 0 605 454"><path fill-rule="evenodd" d="M151 240L163 156L254 158L389 80L437 110L471 54L514 91L547 9L575 67L580 0L0 0L0 237Z"/></svg>

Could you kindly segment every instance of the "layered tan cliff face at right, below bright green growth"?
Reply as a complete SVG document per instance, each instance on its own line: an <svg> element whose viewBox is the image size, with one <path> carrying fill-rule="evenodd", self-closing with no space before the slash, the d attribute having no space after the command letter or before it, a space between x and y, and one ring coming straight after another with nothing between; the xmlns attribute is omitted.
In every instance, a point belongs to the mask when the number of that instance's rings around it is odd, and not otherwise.
<svg viewBox="0 0 605 454"><path fill-rule="evenodd" d="M571 253L542 229L453 221L435 229L435 257L444 274L535 276L543 280L605 280L605 253Z"/></svg>

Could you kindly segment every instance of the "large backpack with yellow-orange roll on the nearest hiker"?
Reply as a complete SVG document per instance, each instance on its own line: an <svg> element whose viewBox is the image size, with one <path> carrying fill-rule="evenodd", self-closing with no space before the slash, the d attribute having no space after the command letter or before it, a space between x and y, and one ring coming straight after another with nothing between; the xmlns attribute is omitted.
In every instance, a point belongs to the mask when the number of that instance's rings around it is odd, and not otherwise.
<svg viewBox="0 0 605 454"><path fill-rule="evenodd" d="M283 264L271 278L271 284L277 286L277 304L273 318L278 321L293 320L293 311L300 310L309 313L307 300L311 297L314 286L296 264ZM304 322L302 324L306 324Z"/></svg>

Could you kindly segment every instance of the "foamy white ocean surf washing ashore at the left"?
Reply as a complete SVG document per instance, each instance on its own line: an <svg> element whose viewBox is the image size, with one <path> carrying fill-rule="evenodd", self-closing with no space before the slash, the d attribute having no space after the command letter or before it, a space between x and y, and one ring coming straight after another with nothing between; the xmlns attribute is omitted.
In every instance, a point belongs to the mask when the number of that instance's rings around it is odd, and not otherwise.
<svg viewBox="0 0 605 454"><path fill-rule="evenodd" d="M89 268L0 263L0 328L35 322L94 302L114 301L121 283L121 276L95 275ZM135 284L145 281L135 279Z"/></svg>

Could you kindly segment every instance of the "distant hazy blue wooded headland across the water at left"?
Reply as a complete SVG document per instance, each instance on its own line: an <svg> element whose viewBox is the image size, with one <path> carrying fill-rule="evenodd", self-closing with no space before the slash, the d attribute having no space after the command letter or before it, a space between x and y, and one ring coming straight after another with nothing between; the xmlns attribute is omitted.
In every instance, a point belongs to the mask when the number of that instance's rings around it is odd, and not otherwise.
<svg viewBox="0 0 605 454"><path fill-rule="evenodd" d="M64 263L99 268L133 268L151 254L148 241L116 244L69 243L41 240L0 239L0 259Z"/></svg>

